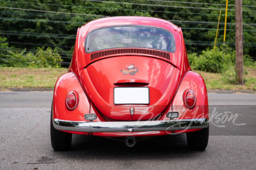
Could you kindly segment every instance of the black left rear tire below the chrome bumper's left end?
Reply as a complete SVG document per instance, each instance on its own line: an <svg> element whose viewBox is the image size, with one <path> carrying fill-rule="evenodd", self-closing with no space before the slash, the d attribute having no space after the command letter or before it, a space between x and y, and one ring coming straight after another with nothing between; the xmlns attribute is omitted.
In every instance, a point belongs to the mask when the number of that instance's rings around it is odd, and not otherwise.
<svg viewBox="0 0 256 170"><path fill-rule="evenodd" d="M51 110L51 143L55 151L67 151L71 148L72 134L61 132L54 128L52 123L52 110Z"/></svg>

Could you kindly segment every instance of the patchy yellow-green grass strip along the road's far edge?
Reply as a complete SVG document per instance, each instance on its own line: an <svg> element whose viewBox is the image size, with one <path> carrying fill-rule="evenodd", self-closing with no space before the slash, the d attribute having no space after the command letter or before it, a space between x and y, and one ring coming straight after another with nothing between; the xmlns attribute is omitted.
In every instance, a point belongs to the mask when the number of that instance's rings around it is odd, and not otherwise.
<svg viewBox="0 0 256 170"><path fill-rule="evenodd" d="M54 88L61 74L67 73L66 68L19 68L0 67L0 89L12 88ZM234 68L225 73L207 73L196 71L202 75L208 90L256 90L256 68L244 68L244 85L235 83Z"/></svg>

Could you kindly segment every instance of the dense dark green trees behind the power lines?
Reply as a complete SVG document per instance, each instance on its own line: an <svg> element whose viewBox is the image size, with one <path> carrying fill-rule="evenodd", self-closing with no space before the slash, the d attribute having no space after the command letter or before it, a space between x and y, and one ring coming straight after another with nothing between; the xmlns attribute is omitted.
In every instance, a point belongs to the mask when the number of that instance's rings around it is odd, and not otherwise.
<svg viewBox="0 0 256 170"><path fill-rule="evenodd" d="M0 1L0 6L7 7L1 8L0 32L8 41L15 42L12 43L15 48L35 51L37 46L58 46L59 53L70 55L77 27L108 16L148 16L170 20L181 27L188 52L200 54L214 43L219 9L222 13L217 45L220 46L223 42L225 3L225 0L211 1L210 4L205 3L205 0L198 0L196 3L188 0L6 0ZM244 0L243 5L244 54L256 57L256 17L254 9L250 7L256 6L256 1ZM236 27L234 8L234 1L228 2L226 43L233 50ZM70 61L70 58L63 59Z"/></svg>

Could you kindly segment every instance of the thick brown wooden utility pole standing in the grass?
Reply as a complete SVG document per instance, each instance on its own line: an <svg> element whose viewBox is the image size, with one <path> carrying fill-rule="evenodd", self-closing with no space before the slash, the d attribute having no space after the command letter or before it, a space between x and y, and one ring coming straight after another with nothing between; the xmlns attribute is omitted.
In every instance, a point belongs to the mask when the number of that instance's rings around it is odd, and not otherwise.
<svg viewBox="0 0 256 170"><path fill-rule="evenodd" d="M240 85L243 80L243 10L242 1L236 0L236 81Z"/></svg>

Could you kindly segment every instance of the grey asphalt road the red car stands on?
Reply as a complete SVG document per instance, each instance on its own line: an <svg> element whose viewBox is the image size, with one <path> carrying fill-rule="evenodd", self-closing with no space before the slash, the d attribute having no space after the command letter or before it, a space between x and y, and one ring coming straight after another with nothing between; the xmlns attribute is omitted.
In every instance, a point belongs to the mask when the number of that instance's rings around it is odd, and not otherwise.
<svg viewBox="0 0 256 170"><path fill-rule="evenodd" d="M209 94L209 145L188 149L186 135L139 141L133 148L74 135L72 150L50 141L52 92L0 92L0 169L256 169L256 95Z"/></svg>

